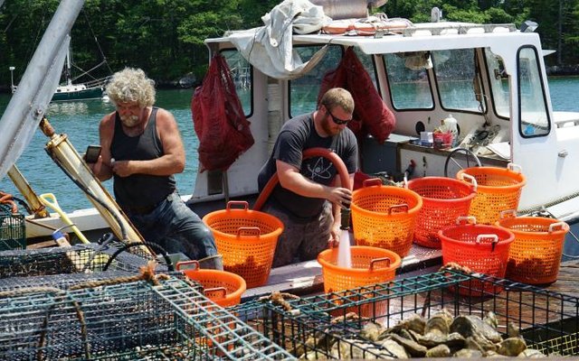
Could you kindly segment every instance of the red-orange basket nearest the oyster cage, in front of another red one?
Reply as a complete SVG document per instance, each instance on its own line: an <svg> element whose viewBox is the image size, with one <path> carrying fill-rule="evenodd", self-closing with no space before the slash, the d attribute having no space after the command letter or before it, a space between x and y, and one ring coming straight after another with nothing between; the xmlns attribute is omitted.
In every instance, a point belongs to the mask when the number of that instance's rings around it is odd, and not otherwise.
<svg viewBox="0 0 579 361"><path fill-rule="evenodd" d="M455 226L439 231L442 245L442 263L460 264L476 273L504 278L507 271L508 250L515 235L508 229L489 225L477 225L474 217L460 217ZM461 293L499 292L492 284L481 286L473 281L470 289L460 288ZM472 290L478 290L472 292Z"/></svg>

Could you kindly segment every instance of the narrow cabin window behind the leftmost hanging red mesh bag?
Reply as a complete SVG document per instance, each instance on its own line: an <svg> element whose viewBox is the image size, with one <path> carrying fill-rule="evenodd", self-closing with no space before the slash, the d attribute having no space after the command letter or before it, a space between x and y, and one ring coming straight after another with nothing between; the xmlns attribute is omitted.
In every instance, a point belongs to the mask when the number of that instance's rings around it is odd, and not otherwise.
<svg viewBox="0 0 579 361"><path fill-rule="evenodd" d="M245 116L252 114L252 66L242 57L242 53L236 50L221 51L223 58L231 71L235 91L243 106Z"/></svg>

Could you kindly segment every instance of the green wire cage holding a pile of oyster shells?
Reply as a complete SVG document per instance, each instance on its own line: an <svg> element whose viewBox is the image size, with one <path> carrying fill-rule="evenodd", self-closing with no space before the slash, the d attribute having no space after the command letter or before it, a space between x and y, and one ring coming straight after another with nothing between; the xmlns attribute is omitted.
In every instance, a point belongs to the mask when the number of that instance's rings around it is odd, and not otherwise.
<svg viewBox="0 0 579 361"><path fill-rule="evenodd" d="M474 282L488 283L484 289L491 291L479 296ZM492 292L493 288L504 292ZM378 307L384 301L387 309ZM375 312L366 312L367 318L353 312L353 317L350 311L356 308ZM446 354L437 356L465 356L465 348L477 347L479 354L471 356L517 356L519 351L526 356L579 355L578 298L479 273L446 270L289 300L283 307L254 302L253 307L244 305L236 312L293 356L307 359L391 358L393 353L399 358L430 357L437 347L444 348L440 345L446 345ZM428 325L433 329L442 314L449 318L445 321L448 336L436 343L424 330ZM422 322L422 336L413 329L417 319ZM483 323L492 329L486 343L476 331L488 331ZM402 339L408 334L418 346ZM516 334L524 340L524 350L520 342L508 348L519 340Z"/></svg>

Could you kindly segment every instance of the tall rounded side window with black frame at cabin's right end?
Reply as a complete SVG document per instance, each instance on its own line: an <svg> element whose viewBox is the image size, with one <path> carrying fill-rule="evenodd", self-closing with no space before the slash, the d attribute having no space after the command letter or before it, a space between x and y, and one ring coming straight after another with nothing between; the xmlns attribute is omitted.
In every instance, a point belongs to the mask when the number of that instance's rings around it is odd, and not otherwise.
<svg viewBox="0 0 579 361"><path fill-rule="evenodd" d="M546 107L545 85L541 75L536 49L523 47L517 57L518 132L524 138L546 135L551 122Z"/></svg>

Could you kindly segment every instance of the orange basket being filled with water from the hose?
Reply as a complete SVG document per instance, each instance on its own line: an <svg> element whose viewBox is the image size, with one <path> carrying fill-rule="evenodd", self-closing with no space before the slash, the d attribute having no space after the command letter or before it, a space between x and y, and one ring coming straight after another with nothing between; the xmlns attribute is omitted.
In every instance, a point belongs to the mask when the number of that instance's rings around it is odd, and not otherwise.
<svg viewBox="0 0 579 361"><path fill-rule="evenodd" d="M318 263L322 266L324 291L326 293L347 291L360 286L392 281L394 280L396 269L402 262L399 255L387 249L354 245L350 248L350 251L352 258L351 268L337 265L337 247L319 253ZM352 295L350 297L356 296ZM339 302L337 300L337 303ZM372 310L362 307L362 310L360 310L361 316L372 317L384 314L388 307L388 301L375 302L375 305L370 303L365 306L374 307L371 308ZM355 309L353 307L352 310L347 310L347 312L356 312Z"/></svg>

